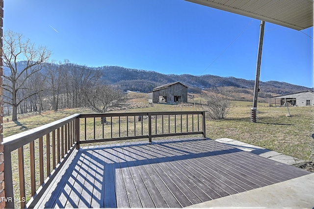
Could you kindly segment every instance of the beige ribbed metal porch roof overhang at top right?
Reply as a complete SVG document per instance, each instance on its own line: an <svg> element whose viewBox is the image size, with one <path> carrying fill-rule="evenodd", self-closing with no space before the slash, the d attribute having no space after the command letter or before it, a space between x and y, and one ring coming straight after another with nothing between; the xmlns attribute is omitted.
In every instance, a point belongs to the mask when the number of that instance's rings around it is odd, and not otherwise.
<svg viewBox="0 0 314 209"><path fill-rule="evenodd" d="M313 26L313 0L187 0L302 30Z"/></svg>

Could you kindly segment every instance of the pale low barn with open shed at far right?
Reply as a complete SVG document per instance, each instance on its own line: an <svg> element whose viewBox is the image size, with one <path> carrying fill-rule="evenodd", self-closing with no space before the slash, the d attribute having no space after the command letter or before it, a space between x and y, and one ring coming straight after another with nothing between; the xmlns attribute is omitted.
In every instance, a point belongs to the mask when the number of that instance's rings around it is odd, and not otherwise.
<svg viewBox="0 0 314 209"><path fill-rule="evenodd" d="M276 99L280 99L280 105L284 106L285 101L287 101L287 104L293 105L293 106L313 106L314 105L314 93L313 91L301 91L296 92L293 94L285 94L280 95L276 97L270 97L269 98L269 104L270 99L275 99L275 106Z"/></svg>

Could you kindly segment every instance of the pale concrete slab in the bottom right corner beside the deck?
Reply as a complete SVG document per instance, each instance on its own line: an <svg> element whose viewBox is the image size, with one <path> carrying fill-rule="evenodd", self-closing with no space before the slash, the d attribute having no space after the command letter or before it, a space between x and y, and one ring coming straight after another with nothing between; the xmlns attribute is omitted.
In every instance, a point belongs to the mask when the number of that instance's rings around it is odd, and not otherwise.
<svg viewBox="0 0 314 209"><path fill-rule="evenodd" d="M314 174L222 197L187 208L306 208L314 207Z"/></svg>

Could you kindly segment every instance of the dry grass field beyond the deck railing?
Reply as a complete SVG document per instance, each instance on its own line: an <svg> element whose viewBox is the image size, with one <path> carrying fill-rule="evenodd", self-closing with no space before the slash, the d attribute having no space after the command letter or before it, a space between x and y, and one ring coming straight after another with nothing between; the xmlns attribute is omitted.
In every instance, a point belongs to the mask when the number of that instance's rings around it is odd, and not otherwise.
<svg viewBox="0 0 314 209"><path fill-rule="evenodd" d="M144 102L144 101L143 101ZM234 102L226 120L208 120L207 136L211 139L232 138L242 142L271 149L288 156L313 160L314 107L266 107L258 105L258 123L250 122L250 102ZM197 110L203 110L201 105ZM142 108L131 108L116 112L135 111L186 111L195 110L193 104L153 104ZM4 123L4 137L26 131L87 109L67 109L46 112L42 115L20 116L19 123ZM4 119L6 120L6 119Z"/></svg>

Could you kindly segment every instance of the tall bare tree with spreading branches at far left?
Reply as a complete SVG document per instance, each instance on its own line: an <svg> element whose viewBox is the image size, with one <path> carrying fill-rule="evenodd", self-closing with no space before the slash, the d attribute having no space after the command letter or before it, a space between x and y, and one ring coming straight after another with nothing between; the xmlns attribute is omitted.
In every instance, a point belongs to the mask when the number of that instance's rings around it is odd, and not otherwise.
<svg viewBox="0 0 314 209"><path fill-rule="evenodd" d="M18 94L22 89L27 88L25 83L28 78L42 69L43 64L49 59L51 51L46 47L35 47L29 39L24 40L21 33L11 30L3 34L3 66L9 68L4 72L3 89L10 93L5 103L12 106L12 121L17 121L18 106L27 98L38 92L20 97ZM24 60L24 61L22 61ZM20 61L19 65L18 62ZM18 69L18 66L23 66Z"/></svg>

